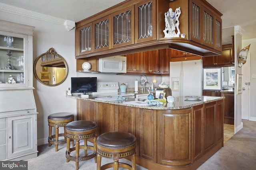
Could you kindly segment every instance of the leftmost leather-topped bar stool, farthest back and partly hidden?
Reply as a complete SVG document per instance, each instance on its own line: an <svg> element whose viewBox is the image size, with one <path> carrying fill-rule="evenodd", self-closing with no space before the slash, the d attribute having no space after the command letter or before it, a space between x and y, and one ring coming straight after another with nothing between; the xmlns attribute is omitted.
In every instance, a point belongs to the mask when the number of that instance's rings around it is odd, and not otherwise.
<svg viewBox="0 0 256 170"><path fill-rule="evenodd" d="M49 126L49 137L48 143L49 147L52 144L55 145L55 151L58 151L58 145L62 143L66 143L66 131L65 126L67 123L74 121L74 115L71 113L60 112L60 113L53 113L48 116L48 126ZM52 135L52 127L55 127L55 135ZM59 127L64 127L64 133L59 134ZM64 139L59 140L59 137L63 136ZM55 141L53 140L55 138ZM74 145L74 142L73 142Z"/></svg>

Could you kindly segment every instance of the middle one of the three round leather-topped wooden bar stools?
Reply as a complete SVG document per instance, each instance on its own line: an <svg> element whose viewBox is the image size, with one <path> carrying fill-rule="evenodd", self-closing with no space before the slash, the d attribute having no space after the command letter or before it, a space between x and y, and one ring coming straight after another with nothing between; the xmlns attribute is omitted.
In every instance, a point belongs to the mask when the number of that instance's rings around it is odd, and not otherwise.
<svg viewBox="0 0 256 170"><path fill-rule="evenodd" d="M76 162L76 170L78 170L79 161L88 160L91 158L95 159L96 163L96 130L97 125L94 121L72 121L65 127L67 135L67 150L66 150L66 162L73 160ZM93 145L87 145L87 139L94 138ZM76 146L70 148L70 140L76 140ZM80 146L80 139L84 139L84 145ZM79 155L79 149L84 149L85 156ZM92 154L87 155L87 150L93 150ZM70 152L76 150L76 156L71 156Z"/></svg>

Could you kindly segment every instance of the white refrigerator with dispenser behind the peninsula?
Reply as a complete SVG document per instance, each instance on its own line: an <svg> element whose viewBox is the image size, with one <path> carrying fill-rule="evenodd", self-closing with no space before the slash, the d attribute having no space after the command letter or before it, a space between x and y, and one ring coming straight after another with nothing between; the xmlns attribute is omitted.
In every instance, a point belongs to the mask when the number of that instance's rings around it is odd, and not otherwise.
<svg viewBox="0 0 256 170"><path fill-rule="evenodd" d="M202 96L202 60L170 62L172 96Z"/></svg>

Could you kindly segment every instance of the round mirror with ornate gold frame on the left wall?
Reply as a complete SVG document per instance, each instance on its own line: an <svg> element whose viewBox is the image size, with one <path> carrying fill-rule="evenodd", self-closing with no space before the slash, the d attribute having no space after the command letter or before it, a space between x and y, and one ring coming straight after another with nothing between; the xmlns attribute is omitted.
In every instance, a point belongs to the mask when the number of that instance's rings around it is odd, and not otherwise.
<svg viewBox="0 0 256 170"><path fill-rule="evenodd" d="M34 62L36 79L46 86L58 86L68 76L68 64L54 48L37 57Z"/></svg>

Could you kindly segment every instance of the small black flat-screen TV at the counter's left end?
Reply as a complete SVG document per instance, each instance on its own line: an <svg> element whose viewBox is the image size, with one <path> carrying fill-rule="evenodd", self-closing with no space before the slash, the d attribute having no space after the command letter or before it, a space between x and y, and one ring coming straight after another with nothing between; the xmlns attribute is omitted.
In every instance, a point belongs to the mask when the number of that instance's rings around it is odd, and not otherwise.
<svg viewBox="0 0 256 170"><path fill-rule="evenodd" d="M97 92L97 77L71 77L71 93Z"/></svg>

